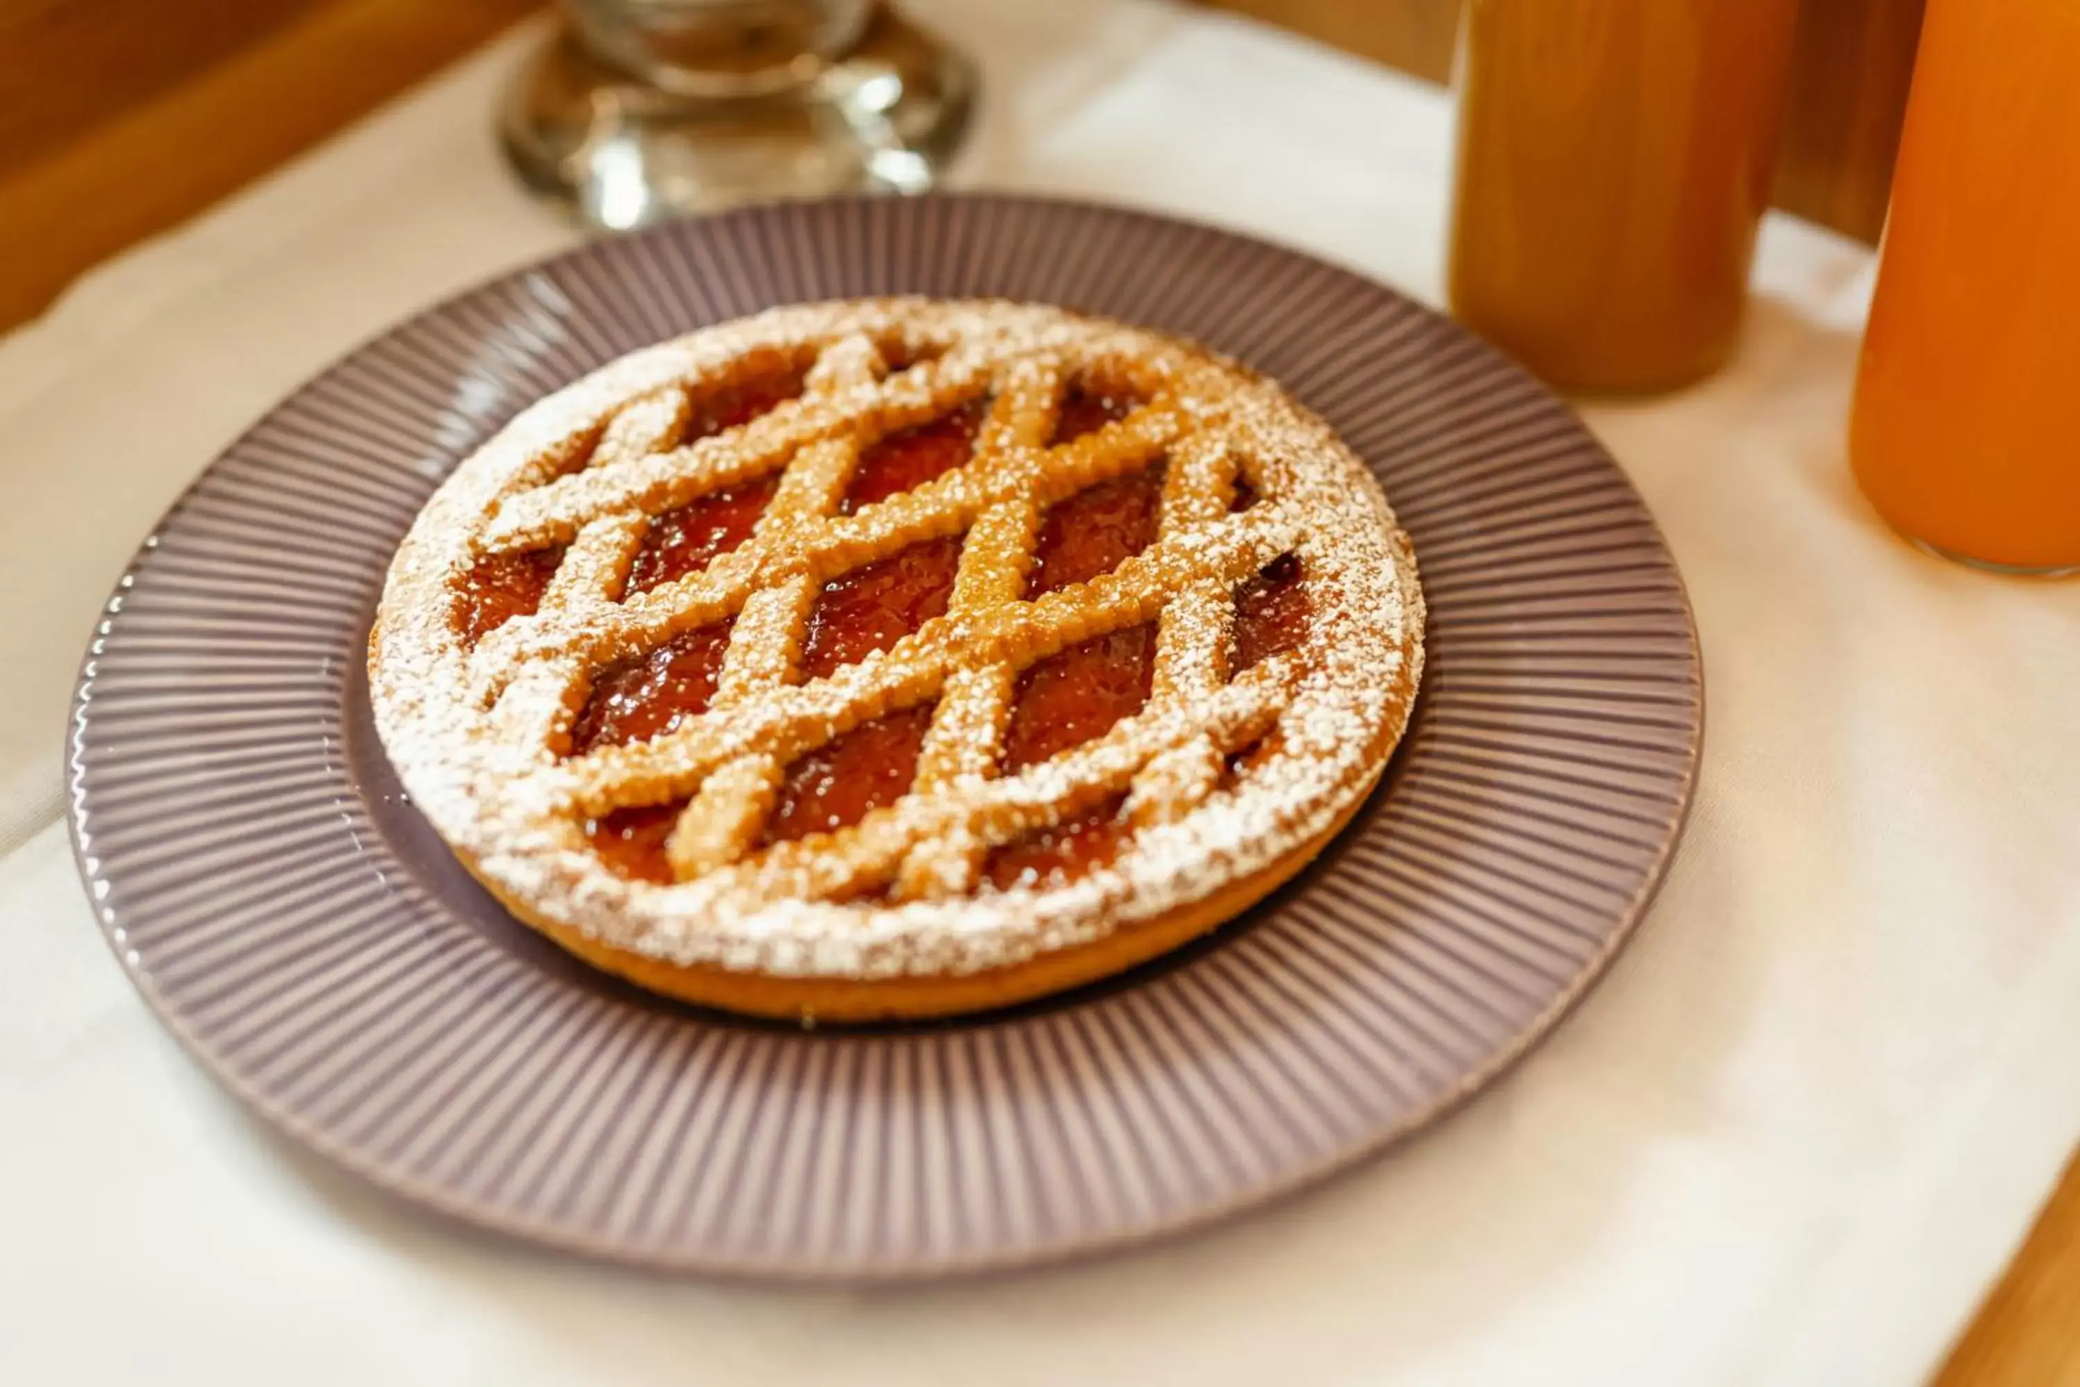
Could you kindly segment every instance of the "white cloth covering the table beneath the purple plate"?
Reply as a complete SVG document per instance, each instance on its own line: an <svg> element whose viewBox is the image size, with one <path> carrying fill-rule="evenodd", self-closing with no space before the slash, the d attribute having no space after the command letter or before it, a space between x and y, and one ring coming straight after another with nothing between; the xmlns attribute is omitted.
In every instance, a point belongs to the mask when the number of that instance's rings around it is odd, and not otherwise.
<svg viewBox="0 0 2080 1387"><path fill-rule="evenodd" d="M1435 299L1444 96L1125 0L913 4L988 73L969 183L1181 208ZM1849 485L1868 260L1766 237L1718 381L1595 408L1689 576L1710 744L1637 944L1435 1133L1240 1225L903 1293L655 1281L435 1225L260 1131L146 1015L58 744L133 543L243 424L566 245L483 54L0 343L0 1381L1912 1383L2080 1137L2080 586ZM64 235L62 227L6 227Z"/></svg>

